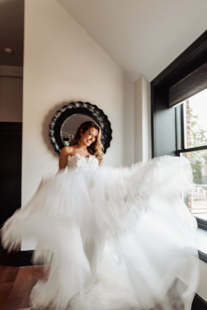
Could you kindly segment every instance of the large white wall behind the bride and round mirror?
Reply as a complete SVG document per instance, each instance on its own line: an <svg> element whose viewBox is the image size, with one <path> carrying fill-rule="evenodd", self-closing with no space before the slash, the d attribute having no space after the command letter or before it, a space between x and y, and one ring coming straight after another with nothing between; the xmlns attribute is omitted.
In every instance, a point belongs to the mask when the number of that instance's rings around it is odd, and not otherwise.
<svg viewBox="0 0 207 310"><path fill-rule="evenodd" d="M105 164L131 164L133 145L128 152L124 138L129 128L134 137L130 121L133 82L123 70L56 0L25 0L24 42L23 204L42 175L58 169L48 125L56 110L72 100L96 104L108 116L113 140L104 156ZM125 118L126 104L129 109Z"/></svg>

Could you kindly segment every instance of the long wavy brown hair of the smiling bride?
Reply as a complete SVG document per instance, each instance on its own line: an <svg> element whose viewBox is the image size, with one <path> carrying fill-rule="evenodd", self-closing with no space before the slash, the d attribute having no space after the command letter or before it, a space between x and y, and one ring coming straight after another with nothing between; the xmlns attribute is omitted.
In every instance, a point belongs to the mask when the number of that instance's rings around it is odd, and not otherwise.
<svg viewBox="0 0 207 310"><path fill-rule="evenodd" d="M82 133L84 134L89 128L92 128L92 127L97 129L98 135L97 135L96 140L90 146L88 146L87 149L89 153L96 156L96 158L98 159L99 165L101 165L103 162L104 147L103 147L103 144L101 143L101 128L95 122L87 121L87 122L82 123L78 127L73 140L70 142L70 145L78 144L79 139L81 137L80 135L81 129L83 130Z"/></svg>

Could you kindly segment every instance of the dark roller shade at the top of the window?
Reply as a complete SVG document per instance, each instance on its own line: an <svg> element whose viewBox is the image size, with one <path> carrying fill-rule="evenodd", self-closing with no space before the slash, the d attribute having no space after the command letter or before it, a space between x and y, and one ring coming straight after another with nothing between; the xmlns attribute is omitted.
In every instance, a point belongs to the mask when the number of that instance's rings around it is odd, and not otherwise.
<svg viewBox="0 0 207 310"><path fill-rule="evenodd" d="M207 62L169 88L169 108L207 88Z"/></svg>

